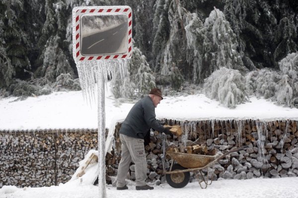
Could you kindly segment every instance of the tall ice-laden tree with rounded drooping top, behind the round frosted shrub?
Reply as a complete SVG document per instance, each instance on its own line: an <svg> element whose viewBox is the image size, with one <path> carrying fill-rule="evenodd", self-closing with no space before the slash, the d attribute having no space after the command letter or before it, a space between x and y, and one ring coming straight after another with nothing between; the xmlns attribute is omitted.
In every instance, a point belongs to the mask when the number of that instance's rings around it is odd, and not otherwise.
<svg viewBox="0 0 298 198"><path fill-rule="evenodd" d="M215 8L210 13L202 32L206 38L203 41L203 66L199 68L200 79L208 77L221 67L246 71L236 50L238 45L236 35L222 11Z"/></svg>

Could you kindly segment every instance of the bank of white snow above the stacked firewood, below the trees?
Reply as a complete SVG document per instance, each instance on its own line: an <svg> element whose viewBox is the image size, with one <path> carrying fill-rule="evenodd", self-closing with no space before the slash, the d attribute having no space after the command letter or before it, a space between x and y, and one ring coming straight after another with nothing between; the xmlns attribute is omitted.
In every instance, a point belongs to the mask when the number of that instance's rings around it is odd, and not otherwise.
<svg viewBox="0 0 298 198"><path fill-rule="evenodd" d="M126 117L133 103L119 103L109 89L106 89L105 96L106 127L110 128L116 120ZM20 101L15 99L0 99L2 130L97 128L97 99L90 104L83 100L81 91L56 92ZM277 106L255 97L250 101L229 109L202 94L164 97L155 113L157 118L178 120L298 119L297 108Z"/></svg>

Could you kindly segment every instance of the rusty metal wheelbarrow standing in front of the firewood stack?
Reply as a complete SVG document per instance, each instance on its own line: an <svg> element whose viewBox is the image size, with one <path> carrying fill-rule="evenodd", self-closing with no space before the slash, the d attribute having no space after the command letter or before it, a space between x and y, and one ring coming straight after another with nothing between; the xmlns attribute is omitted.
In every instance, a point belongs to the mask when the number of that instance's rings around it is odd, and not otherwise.
<svg viewBox="0 0 298 198"><path fill-rule="evenodd" d="M211 177L211 181L208 181L209 179L209 171L208 171L207 177L205 179L204 175L202 174L202 169L214 165L215 162L219 161L220 159L224 158L226 155L232 152L236 152L246 148L248 148L248 146L234 148L222 155L219 155L219 154L200 155L200 154L188 154L188 153L182 153L182 152L167 151L166 154L172 158L172 162L170 167L167 169L167 171L164 172L165 179L171 187L183 188L188 184L190 180L190 171L194 171L195 176L200 184L200 187L202 189L206 189L208 185L212 184L213 177ZM175 163L175 161L177 163ZM202 179L199 178L199 174L201 175Z"/></svg>

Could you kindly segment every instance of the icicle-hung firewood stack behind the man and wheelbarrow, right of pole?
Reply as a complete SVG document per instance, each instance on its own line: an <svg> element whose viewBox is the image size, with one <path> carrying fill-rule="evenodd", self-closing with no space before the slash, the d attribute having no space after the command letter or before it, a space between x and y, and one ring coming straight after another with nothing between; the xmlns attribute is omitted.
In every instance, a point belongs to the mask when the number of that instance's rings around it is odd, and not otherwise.
<svg viewBox="0 0 298 198"><path fill-rule="evenodd" d="M207 145L208 150L216 148L225 153L231 148L249 146L245 150L233 152L217 164L203 170L205 176L218 179L251 179L258 177L279 178L298 176L298 130L296 120L201 120L184 121L164 119L170 125L181 125L181 137L167 137L154 132L150 143L145 147L148 163L148 180L160 184L165 181L162 166L163 150L166 141L175 147ZM121 123L116 127L119 131ZM165 143L165 144L163 144ZM118 161L109 164L109 175L117 174L120 155L119 135L115 153ZM170 157L165 156L165 169L170 165ZM211 174L213 172L213 174ZM134 165L131 165L128 178L135 180ZM192 180L195 180L193 175Z"/></svg>

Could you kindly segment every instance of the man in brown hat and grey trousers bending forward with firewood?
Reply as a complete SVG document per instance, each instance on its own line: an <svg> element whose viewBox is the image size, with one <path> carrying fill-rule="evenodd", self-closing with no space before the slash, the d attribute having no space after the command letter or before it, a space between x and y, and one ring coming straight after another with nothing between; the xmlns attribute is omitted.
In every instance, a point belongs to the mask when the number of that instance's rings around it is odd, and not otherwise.
<svg viewBox="0 0 298 198"><path fill-rule="evenodd" d="M117 190L126 190L125 179L131 161L135 163L136 190L152 190L145 182L147 178L147 160L144 138L150 128L165 134L171 134L170 127L163 127L155 118L155 108L162 100L161 91L152 89L149 95L140 99L130 110L120 128L122 157L118 167Z"/></svg>

